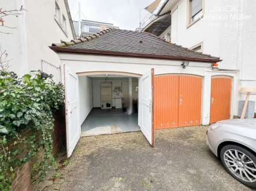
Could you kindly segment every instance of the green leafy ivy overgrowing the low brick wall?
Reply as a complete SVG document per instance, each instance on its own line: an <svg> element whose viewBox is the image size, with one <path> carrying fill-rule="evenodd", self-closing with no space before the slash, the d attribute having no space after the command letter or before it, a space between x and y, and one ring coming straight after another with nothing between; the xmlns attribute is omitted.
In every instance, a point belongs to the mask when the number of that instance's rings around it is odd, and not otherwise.
<svg viewBox="0 0 256 191"><path fill-rule="evenodd" d="M54 162L53 114L63 108L64 87L53 75L0 71L0 190L12 189L16 169L34 159L31 178L42 181Z"/></svg>

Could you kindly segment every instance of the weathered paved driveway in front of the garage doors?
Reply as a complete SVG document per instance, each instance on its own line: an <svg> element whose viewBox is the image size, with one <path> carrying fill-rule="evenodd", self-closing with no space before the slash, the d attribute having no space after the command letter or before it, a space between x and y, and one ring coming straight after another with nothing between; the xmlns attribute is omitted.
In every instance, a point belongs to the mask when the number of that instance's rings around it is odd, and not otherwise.
<svg viewBox="0 0 256 191"><path fill-rule="evenodd" d="M206 129L158 130L155 148L141 132L81 137L61 177L51 171L36 190L251 190L210 152Z"/></svg>

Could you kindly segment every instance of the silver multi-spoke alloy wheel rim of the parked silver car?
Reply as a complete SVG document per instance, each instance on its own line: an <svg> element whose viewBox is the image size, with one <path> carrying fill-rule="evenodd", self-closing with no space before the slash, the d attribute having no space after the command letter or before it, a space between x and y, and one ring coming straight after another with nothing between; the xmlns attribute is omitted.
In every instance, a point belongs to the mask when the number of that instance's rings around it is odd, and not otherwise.
<svg viewBox="0 0 256 191"><path fill-rule="evenodd" d="M246 182L256 182L256 165L243 152L229 149L224 152L224 161L236 177Z"/></svg>

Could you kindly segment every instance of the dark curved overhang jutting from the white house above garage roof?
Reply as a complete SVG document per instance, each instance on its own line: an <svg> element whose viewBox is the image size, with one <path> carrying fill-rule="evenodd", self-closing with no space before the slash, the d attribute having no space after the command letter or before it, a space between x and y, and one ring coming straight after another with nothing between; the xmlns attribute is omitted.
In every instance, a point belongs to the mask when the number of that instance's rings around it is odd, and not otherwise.
<svg viewBox="0 0 256 191"><path fill-rule="evenodd" d="M169 13L150 22L142 31L160 36L172 24L172 15Z"/></svg>

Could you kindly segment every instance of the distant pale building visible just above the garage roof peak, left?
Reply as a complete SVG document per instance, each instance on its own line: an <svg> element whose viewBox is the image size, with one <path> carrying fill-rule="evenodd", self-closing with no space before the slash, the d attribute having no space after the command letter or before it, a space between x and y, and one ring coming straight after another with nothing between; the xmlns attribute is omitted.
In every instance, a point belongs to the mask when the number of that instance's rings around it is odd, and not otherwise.
<svg viewBox="0 0 256 191"><path fill-rule="evenodd" d="M79 22L73 21L76 37L79 37ZM106 22L97 22L97 21L88 21L88 20L82 20L81 21L81 35L83 37L90 36L93 34L96 34L98 32L101 32L102 30L109 29L109 28L115 28L118 29L118 26L114 26L113 24L106 23Z"/></svg>

